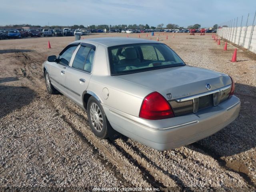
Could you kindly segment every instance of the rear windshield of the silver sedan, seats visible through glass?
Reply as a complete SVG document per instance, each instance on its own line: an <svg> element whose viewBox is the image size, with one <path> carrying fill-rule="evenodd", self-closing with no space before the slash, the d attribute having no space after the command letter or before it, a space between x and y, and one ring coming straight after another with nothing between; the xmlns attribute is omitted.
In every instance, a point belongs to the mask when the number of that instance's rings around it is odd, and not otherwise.
<svg viewBox="0 0 256 192"><path fill-rule="evenodd" d="M144 43L108 48L111 75L132 74L183 66L185 63L167 45Z"/></svg>

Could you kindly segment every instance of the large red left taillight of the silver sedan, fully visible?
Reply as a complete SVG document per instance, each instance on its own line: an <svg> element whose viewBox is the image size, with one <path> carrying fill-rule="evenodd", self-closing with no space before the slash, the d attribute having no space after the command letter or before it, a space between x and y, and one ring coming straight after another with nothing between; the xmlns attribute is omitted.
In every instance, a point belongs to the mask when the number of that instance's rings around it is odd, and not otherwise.
<svg viewBox="0 0 256 192"><path fill-rule="evenodd" d="M152 92L144 98L139 117L159 120L174 117L174 113L170 104L160 93Z"/></svg>

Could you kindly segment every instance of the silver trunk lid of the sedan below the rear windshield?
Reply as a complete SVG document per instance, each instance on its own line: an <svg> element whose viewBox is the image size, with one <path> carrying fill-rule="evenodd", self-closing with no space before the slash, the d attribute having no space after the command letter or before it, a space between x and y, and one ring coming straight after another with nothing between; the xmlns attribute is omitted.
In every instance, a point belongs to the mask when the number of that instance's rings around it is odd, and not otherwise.
<svg viewBox="0 0 256 192"><path fill-rule="evenodd" d="M115 77L150 88L162 94L167 100L170 100L166 96L169 93L172 94L172 99L176 99L209 92L232 83L226 74L191 66L165 68ZM210 90L206 88L207 84L211 85Z"/></svg>

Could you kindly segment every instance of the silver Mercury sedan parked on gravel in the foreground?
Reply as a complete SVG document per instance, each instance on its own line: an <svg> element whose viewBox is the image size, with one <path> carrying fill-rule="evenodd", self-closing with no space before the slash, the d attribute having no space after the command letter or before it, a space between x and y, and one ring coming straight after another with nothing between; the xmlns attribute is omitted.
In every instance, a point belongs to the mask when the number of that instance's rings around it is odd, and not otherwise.
<svg viewBox="0 0 256 192"><path fill-rule="evenodd" d="M42 68L48 93L61 92L86 110L99 138L123 134L169 150L218 132L240 110L230 76L188 66L151 40L79 40Z"/></svg>

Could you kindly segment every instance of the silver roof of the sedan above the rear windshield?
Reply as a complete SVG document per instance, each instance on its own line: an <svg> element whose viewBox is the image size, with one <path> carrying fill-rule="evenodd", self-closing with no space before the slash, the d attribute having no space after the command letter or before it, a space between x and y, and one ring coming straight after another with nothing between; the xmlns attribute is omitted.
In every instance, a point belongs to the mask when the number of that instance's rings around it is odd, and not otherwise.
<svg viewBox="0 0 256 192"><path fill-rule="evenodd" d="M92 38L92 39L83 39L75 42L80 43L94 43L101 44L106 47L125 45L125 44L138 44L138 43L159 43L152 40L140 39L140 38L123 38L123 37L104 37L104 38Z"/></svg>

